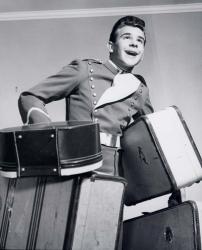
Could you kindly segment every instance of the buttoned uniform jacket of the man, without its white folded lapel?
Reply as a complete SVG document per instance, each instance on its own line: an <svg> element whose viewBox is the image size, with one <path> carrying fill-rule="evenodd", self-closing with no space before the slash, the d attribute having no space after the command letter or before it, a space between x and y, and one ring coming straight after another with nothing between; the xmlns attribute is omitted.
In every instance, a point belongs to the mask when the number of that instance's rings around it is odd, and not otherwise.
<svg viewBox="0 0 202 250"><path fill-rule="evenodd" d="M118 69L109 61L75 60L56 75L48 77L19 98L22 120L27 121L31 108L36 107L47 113L45 105L52 101L66 99L66 120L97 121L102 132L122 134L122 130L138 114L153 112L149 90L142 76L138 90L121 100L94 109L103 92L111 87ZM43 113L33 111L29 123L50 121Z"/></svg>

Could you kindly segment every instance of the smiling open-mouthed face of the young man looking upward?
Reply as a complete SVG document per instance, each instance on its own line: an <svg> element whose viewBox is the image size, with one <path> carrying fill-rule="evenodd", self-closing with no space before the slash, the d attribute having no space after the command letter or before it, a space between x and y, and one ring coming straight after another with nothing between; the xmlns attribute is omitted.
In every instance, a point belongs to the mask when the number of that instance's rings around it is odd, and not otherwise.
<svg viewBox="0 0 202 250"><path fill-rule="evenodd" d="M109 42L110 59L121 69L131 70L144 54L145 34L133 26L123 26L116 31L116 41Z"/></svg>

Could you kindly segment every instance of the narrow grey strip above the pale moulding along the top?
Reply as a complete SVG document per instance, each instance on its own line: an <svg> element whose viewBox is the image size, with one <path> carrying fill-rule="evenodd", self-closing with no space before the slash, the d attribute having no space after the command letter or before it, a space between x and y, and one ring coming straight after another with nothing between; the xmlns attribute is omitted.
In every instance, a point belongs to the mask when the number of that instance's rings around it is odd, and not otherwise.
<svg viewBox="0 0 202 250"><path fill-rule="evenodd" d="M199 0L0 0L0 12L193 4Z"/></svg>

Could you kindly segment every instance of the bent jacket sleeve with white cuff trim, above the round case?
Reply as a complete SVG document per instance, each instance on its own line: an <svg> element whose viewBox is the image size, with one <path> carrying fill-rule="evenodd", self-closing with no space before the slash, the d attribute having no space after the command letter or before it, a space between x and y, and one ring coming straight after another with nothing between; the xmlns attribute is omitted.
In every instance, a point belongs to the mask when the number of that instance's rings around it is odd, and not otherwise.
<svg viewBox="0 0 202 250"><path fill-rule="evenodd" d="M75 60L57 74L22 92L18 99L18 107L23 123L50 122L45 105L71 95L86 74L85 63Z"/></svg>

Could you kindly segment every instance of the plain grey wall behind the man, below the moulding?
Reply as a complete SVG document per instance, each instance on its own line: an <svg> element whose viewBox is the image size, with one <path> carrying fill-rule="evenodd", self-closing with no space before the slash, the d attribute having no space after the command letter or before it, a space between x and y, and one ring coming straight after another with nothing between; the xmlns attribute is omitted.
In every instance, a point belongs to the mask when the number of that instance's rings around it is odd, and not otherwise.
<svg viewBox="0 0 202 250"><path fill-rule="evenodd" d="M107 41L117 17L0 22L0 128L22 125L21 91L56 73L74 58L108 58ZM202 155L202 13L141 15L146 21L144 61L137 67L155 110L176 105ZM64 120L64 101L48 105ZM201 184L187 189L202 200ZM156 205L155 205L156 206Z"/></svg>

